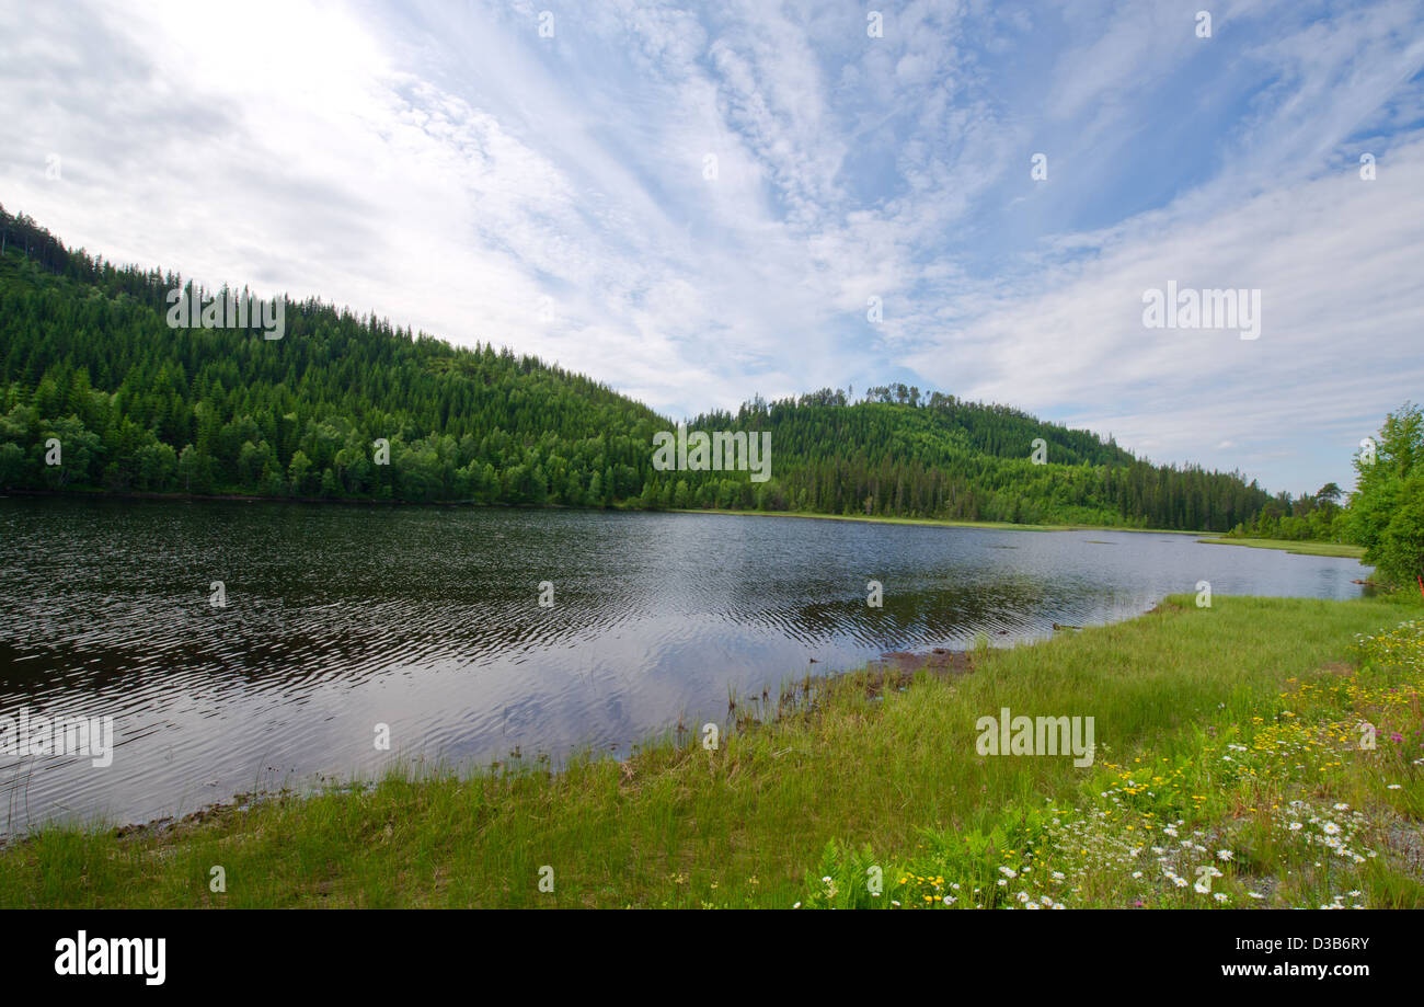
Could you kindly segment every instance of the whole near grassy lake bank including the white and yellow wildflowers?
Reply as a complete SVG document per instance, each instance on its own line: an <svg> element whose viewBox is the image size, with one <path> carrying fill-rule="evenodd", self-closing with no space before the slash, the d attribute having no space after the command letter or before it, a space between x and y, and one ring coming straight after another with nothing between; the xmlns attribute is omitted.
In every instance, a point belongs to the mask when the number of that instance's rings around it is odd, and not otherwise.
<svg viewBox="0 0 1424 1007"><path fill-rule="evenodd" d="M803 682L782 696L797 712L711 752L392 776L122 838L48 829L0 850L0 906L1424 906L1424 641L1351 652L1420 614L1183 595L981 649L965 675ZM975 721L1002 706L1094 716L1095 763L978 755ZM1212 896L1172 880L1200 865L1220 869Z"/></svg>

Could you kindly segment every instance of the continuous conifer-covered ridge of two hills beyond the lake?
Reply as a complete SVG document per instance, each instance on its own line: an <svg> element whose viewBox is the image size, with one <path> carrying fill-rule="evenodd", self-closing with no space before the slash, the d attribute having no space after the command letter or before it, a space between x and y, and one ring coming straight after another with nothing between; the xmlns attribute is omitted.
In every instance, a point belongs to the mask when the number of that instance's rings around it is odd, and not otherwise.
<svg viewBox="0 0 1424 1007"><path fill-rule="evenodd" d="M318 301L283 302L281 339L172 328L182 286L0 209L0 487L1212 530L1269 499L1236 474L1151 466L1087 432L904 386L692 420L770 432L766 481L658 471L652 436L672 422L580 375ZM1031 460L1038 437L1047 464Z"/></svg>

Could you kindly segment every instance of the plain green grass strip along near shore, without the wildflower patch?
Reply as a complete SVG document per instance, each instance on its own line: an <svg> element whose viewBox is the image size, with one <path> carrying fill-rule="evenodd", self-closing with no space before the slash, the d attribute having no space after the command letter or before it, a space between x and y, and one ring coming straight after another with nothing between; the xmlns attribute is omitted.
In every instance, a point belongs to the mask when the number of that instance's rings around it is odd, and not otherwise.
<svg viewBox="0 0 1424 1007"><path fill-rule="evenodd" d="M1292 679L1353 681L1343 662L1356 634L1418 611L1400 598L1220 595L1198 610L1183 595L1128 622L981 647L968 675L799 682L782 694L783 711L797 712L723 734L713 752L662 741L625 763L584 759L557 775L540 766L419 781L393 773L365 791L273 799L124 838L48 828L0 850L0 906L787 907L823 897L812 880L823 872L840 870L847 887L863 877L860 853L846 850L869 847L897 872L948 863L940 846L958 850L960 836L963 849L980 838L974 870L991 872L1007 850L1022 852L1010 842L1022 809L1087 815L1098 788L1108 789L1104 775L1121 772L1111 766L1139 758L1189 769L1205 745L1279 714ZM1075 769L1071 759L977 755L975 721L1001 706L1094 716L1098 762ZM1417 726L1417 699L1413 715ZM1203 776L1225 765L1215 755L1203 765L1179 781L1195 789L1173 791L1173 800L1186 802L1193 822L1257 826L1249 809L1262 799L1237 779ZM1339 788L1351 806L1396 816L1378 828L1417 839L1418 769L1400 778L1403 791L1371 779L1331 775L1327 786L1312 776L1303 792L1327 800ZM1267 785L1279 791L1272 800L1284 799L1284 781ZM1158 810L1183 816L1176 805ZM1283 876L1294 863L1266 839L1252 849L1260 859L1252 870ZM225 893L209 890L214 866L225 870ZM538 887L544 866L551 893ZM1417 867L1411 875L1387 850L1370 867L1377 902L1424 904ZM889 886L899 883L887 873ZM1106 869L1079 887L1074 904L1128 897Z"/></svg>

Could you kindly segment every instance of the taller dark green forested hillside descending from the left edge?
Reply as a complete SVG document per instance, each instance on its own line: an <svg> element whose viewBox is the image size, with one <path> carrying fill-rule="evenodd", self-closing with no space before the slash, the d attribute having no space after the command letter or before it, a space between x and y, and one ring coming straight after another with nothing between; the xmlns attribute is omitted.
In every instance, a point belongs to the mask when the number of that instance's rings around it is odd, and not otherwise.
<svg viewBox="0 0 1424 1007"><path fill-rule="evenodd" d="M0 228L0 489L604 506L654 474L668 422L587 377L316 301L276 340L171 329L182 278Z"/></svg>

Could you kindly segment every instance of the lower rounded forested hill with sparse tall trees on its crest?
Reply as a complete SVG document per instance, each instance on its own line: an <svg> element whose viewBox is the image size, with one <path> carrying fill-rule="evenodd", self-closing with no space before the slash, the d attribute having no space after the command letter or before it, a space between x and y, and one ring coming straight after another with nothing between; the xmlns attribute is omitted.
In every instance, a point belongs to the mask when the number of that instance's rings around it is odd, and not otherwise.
<svg viewBox="0 0 1424 1007"><path fill-rule="evenodd" d="M755 399L689 429L769 430L773 479L760 510L1015 524L1106 524L1226 531L1269 497L1236 473L1153 466L1084 430L938 392L903 400L883 389L854 406L823 389ZM916 405L913 405L916 403ZM1034 440L1047 463L1032 461ZM692 506L738 507L725 473L686 473Z"/></svg>

